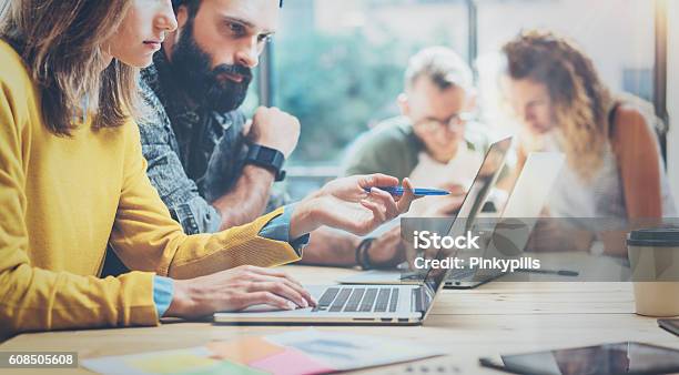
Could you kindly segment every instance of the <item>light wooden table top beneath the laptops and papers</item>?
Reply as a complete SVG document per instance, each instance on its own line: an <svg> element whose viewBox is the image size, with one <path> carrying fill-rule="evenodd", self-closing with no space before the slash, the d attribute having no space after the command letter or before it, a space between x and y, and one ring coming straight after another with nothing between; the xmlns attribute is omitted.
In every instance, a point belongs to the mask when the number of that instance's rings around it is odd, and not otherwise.
<svg viewBox="0 0 679 375"><path fill-rule="evenodd" d="M286 266L304 283L333 283L354 270ZM317 327L406 338L445 348L449 355L361 373L401 374L412 366L443 366L464 374L500 374L478 365L482 356L545 348L641 341L679 348L679 338L660 330L655 318L634 314L630 283L494 282L473 291L444 291L423 326ZM280 333L301 327L215 326L210 323L164 323L160 327L23 334L0 351L77 351L80 358L182 348L243 335ZM22 372L13 371L12 374ZM28 373L28 372L27 372ZM30 372L34 373L34 371ZM50 369L71 374L73 369ZM79 369L78 373L88 373ZM436 372L429 371L435 374ZM456 373L456 372L448 372Z"/></svg>

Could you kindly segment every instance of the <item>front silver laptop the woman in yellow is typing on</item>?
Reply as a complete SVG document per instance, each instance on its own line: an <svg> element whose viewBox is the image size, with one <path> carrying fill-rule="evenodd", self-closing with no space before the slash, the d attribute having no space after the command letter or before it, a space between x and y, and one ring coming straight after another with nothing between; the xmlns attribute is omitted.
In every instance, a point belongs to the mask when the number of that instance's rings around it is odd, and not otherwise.
<svg viewBox="0 0 679 375"><path fill-rule="evenodd" d="M465 197L463 212L475 215L480 210L490 186L497 180L498 171L504 164L510 145L510 138L493 144L470 192ZM490 161L496 165L490 168L487 164ZM460 229L459 224L465 221L453 220L448 230L440 232L450 235L462 233L464 229ZM446 251L440 251L436 257L444 260L448 255ZM374 283L305 285L306 290L318 302L316 307L277 311L268 305L255 305L241 312L215 313L213 318L215 323L223 324L417 325L422 324L427 317L449 272L450 270L432 268L418 282L402 285Z"/></svg>

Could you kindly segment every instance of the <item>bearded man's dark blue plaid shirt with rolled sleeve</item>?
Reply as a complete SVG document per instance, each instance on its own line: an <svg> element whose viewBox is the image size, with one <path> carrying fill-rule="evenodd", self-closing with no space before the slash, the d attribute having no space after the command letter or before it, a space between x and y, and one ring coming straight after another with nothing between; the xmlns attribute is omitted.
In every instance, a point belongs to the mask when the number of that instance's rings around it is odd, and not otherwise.
<svg viewBox="0 0 679 375"><path fill-rule="evenodd" d="M247 154L245 115L190 108L174 87L165 54L155 53L153 60L140 82L150 108L139 126L146 173L185 233L216 232L222 219L210 202L227 193L241 175ZM285 201L284 193L272 194L266 211Z"/></svg>

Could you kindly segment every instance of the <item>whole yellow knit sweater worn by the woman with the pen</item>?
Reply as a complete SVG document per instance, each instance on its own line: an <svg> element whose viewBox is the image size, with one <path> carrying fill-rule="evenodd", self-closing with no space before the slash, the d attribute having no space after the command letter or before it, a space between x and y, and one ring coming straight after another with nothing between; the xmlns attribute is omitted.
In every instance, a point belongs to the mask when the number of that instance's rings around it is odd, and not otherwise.
<svg viewBox="0 0 679 375"><path fill-rule="evenodd" d="M153 275L188 278L298 260L260 237L281 210L188 236L146 178L133 121L50 133L39 92L0 41L0 337L26 331L158 324ZM135 272L98 278L107 243Z"/></svg>

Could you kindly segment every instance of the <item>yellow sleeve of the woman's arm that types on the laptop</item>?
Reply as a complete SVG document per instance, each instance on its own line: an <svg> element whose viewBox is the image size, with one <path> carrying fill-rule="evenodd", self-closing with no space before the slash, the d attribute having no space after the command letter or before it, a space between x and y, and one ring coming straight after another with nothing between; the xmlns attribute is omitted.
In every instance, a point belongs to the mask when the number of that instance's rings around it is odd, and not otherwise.
<svg viewBox="0 0 679 375"><path fill-rule="evenodd" d="M22 159L31 133L28 100L11 92L0 81L0 339L27 331L156 324L152 273L102 280L33 266Z"/></svg>

